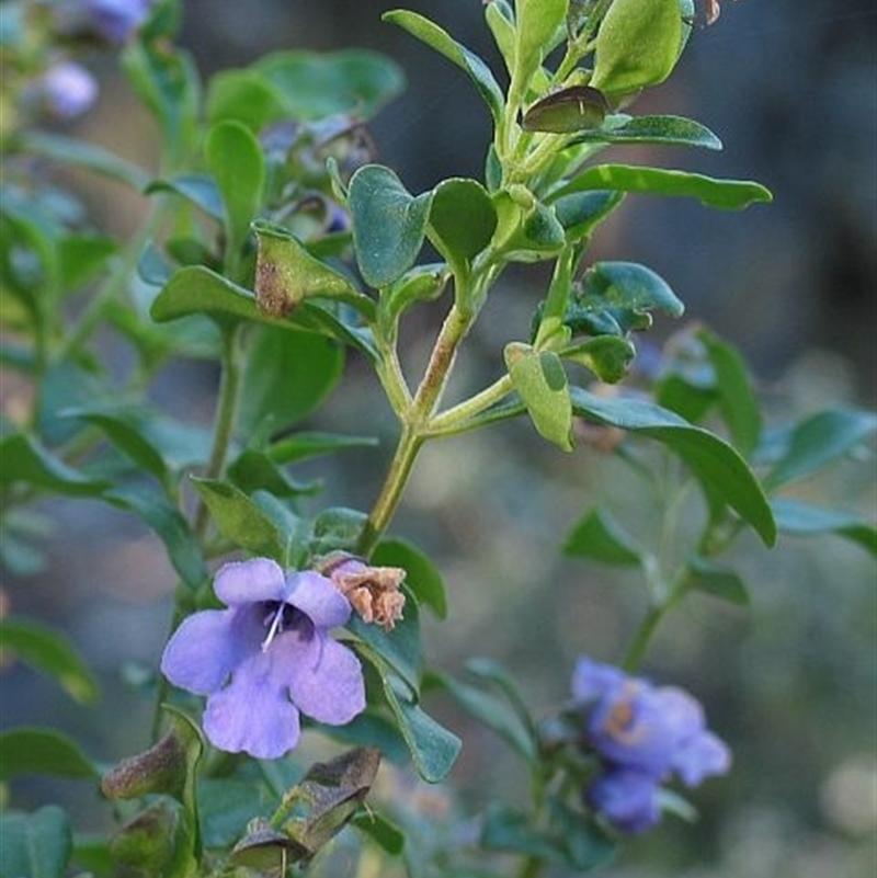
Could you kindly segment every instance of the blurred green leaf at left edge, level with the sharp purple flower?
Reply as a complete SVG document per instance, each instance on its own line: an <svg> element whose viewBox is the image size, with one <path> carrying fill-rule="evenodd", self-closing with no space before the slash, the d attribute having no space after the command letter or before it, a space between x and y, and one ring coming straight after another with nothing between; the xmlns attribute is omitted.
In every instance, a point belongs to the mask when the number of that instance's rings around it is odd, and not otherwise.
<svg viewBox="0 0 877 878"><path fill-rule="evenodd" d="M8 616L0 619L0 648L54 677L77 702L98 698L98 682L67 639L45 625Z"/></svg>

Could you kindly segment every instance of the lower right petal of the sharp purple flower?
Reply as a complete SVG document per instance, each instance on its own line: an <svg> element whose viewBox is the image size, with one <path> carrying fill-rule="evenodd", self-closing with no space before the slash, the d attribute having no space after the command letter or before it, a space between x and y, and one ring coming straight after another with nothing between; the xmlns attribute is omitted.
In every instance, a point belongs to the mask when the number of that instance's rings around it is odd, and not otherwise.
<svg viewBox="0 0 877 878"><path fill-rule="evenodd" d="M330 637L308 643L284 635L276 643L293 702L318 722L343 726L365 710L365 681L360 660Z"/></svg>

